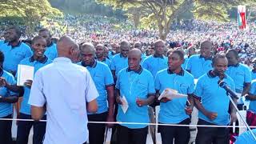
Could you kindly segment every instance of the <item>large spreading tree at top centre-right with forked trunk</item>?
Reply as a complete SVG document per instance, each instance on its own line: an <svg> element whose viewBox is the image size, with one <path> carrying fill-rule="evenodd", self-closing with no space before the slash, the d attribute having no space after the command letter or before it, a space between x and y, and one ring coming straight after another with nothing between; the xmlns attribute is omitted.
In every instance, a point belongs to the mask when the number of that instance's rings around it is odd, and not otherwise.
<svg viewBox="0 0 256 144"><path fill-rule="evenodd" d="M122 8L129 14L131 8L140 8L146 11L142 14L141 22L156 23L159 30L159 38L166 39L170 33L170 24L180 14L188 10L194 14L194 18L203 20L228 21L228 10L249 0L96 0L96 2L113 6L114 9ZM253 0L254 1L254 0ZM192 9L191 9L192 6Z"/></svg>

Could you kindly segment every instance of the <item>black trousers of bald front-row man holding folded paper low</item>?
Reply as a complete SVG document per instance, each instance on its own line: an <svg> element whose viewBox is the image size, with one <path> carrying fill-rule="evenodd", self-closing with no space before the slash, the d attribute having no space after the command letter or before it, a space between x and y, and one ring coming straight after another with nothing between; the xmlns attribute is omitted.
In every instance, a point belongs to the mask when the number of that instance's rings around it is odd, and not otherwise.
<svg viewBox="0 0 256 144"><path fill-rule="evenodd" d="M129 129L126 126L117 126L118 144L146 144L148 126L142 129Z"/></svg>

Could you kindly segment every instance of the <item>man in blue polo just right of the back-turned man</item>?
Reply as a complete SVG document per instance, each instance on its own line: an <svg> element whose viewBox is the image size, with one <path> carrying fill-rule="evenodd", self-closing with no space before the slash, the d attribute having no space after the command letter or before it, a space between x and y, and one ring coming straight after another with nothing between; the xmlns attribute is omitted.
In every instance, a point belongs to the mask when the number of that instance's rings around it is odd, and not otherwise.
<svg viewBox="0 0 256 144"><path fill-rule="evenodd" d="M102 48L102 46L98 45L98 48ZM95 49L91 43L82 44L80 55L82 62L78 64L85 66L90 72L99 94L97 98L98 111L94 114L89 113L88 120L91 122L114 122L114 80L110 68L95 59ZM90 144L104 142L106 126L112 127L111 124L88 124Z"/></svg>

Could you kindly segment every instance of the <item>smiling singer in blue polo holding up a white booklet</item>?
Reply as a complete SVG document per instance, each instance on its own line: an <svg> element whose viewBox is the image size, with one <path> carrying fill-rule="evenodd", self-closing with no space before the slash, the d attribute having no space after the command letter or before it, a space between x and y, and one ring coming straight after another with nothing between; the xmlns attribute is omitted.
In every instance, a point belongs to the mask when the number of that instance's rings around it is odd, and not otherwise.
<svg viewBox="0 0 256 144"><path fill-rule="evenodd" d="M37 36L33 38L32 40L32 50L34 51L34 55L30 58L24 58L20 64L26 65L26 66L34 66L34 74L36 71L38 71L43 66L46 66L50 64L52 61L50 58L47 58L44 55L44 52L46 51L46 40L42 38L41 36ZM18 118L21 119L31 119L31 111L30 111L30 104L28 103L30 98L30 88L32 86L33 81L27 80L25 82L25 86L16 86L11 85L8 82L6 83L6 87L8 87L10 90L14 90L15 92L20 92L22 89L24 90L23 98L22 98L22 105L21 109L18 114ZM43 119L46 119L46 115ZM34 143L42 143L44 134L46 133L46 122L26 122L26 121L20 121L18 122L18 130L17 130L17 140L16 142L18 144L27 143L30 129L31 127L34 127L34 136L33 136L33 142Z"/></svg>

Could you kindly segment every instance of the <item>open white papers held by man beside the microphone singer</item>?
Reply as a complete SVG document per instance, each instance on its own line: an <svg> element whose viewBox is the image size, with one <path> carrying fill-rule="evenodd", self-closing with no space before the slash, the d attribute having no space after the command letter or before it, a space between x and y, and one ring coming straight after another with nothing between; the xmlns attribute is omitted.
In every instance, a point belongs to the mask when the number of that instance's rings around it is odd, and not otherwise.
<svg viewBox="0 0 256 144"><path fill-rule="evenodd" d="M160 101L162 98L184 98L187 97L186 94L178 94L177 90L172 90L170 88L166 88L166 90L162 91L162 94L158 97L158 100Z"/></svg>

